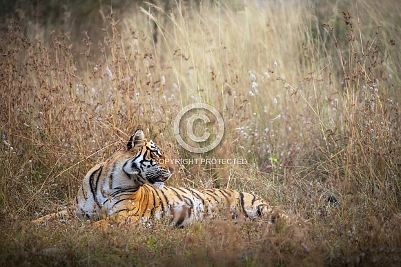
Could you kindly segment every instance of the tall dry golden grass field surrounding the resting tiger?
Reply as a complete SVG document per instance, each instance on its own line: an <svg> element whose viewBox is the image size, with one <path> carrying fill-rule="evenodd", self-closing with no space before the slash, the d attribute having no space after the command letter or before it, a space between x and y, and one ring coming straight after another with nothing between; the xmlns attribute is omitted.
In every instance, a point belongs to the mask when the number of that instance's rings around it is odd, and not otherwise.
<svg viewBox="0 0 401 267"><path fill-rule="evenodd" d="M48 3L0 25L0 262L400 266L399 3ZM173 132L195 102L225 125L203 155ZM175 166L169 186L255 192L291 225L30 224L137 128L171 158L248 162Z"/></svg>

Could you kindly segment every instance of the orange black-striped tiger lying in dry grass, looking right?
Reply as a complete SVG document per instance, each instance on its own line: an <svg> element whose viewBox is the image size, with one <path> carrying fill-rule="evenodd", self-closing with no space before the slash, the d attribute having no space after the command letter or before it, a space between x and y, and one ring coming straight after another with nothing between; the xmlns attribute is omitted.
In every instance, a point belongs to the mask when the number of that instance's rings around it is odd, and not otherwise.
<svg viewBox="0 0 401 267"><path fill-rule="evenodd" d="M288 216L273 210L261 197L230 189L164 186L174 168L164 151L135 131L125 148L91 168L75 198L79 219L95 221L97 228L115 224L148 224L164 220L177 228L204 219L262 218L269 223ZM63 217L63 214L47 215Z"/></svg>

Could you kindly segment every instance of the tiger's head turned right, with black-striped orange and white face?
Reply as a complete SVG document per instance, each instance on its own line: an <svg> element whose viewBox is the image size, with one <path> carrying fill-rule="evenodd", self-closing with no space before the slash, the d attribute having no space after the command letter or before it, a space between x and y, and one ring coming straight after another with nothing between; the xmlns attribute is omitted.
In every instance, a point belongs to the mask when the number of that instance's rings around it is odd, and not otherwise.
<svg viewBox="0 0 401 267"><path fill-rule="evenodd" d="M164 181L174 172L168 157L152 140L145 139L142 130L130 137L124 151L128 160L122 166L126 175L136 175L140 184L152 184L162 189Z"/></svg>

